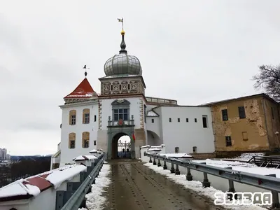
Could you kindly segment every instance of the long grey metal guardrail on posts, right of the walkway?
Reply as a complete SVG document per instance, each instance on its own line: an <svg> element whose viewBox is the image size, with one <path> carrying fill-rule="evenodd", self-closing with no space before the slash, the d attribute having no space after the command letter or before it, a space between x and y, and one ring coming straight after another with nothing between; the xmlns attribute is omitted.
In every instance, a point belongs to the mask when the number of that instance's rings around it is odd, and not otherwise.
<svg viewBox="0 0 280 210"><path fill-rule="evenodd" d="M244 183L249 186L255 186L257 188L262 188L265 190L269 190L272 192L272 207L280 207L279 204L279 196L280 193L280 179L276 178L275 174L269 174L267 176L260 174L251 174L247 172L239 172L232 170L232 167L221 168L214 167L211 165L206 165L206 162L198 163L193 162L191 160L178 160L176 158L167 158L164 155L156 155L151 153L144 153L144 156L150 157L149 162L153 162L153 165L157 165L155 160L158 160L158 166L161 166L160 160L164 161L164 169L167 169L166 162L170 162L172 167L170 169L171 173L180 174L179 166L186 167L188 169L188 173L186 174L186 179L188 181L193 180L193 176L190 174L190 169L196 170L198 172L204 173L204 180L202 182L202 186L207 188L210 187L210 182L208 180L207 174L211 174L214 176L221 177L223 179L228 179L229 181L229 192L234 193L234 181L238 183ZM153 158L153 161L152 161ZM176 165L176 169L174 168Z"/></svg>

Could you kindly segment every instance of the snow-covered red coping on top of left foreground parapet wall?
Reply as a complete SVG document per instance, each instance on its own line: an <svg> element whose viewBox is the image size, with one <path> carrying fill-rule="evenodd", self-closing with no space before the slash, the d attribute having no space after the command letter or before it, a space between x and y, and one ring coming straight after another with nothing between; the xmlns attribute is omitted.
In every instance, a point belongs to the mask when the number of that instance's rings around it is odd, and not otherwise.
<svg viewBox="0 0 280 210"><path fill-rule="evenodd" d="M87 169L84 165L66 165L64 167L53 169L42 174L30 176L27 179L14 181L0 188L1 200L22 200L35 197L39 193L54 187L55 189L66 180L71 180L80 172ZM21 197L18 197L21 196ZM22 196L26 196L23 198Z"/></svg>

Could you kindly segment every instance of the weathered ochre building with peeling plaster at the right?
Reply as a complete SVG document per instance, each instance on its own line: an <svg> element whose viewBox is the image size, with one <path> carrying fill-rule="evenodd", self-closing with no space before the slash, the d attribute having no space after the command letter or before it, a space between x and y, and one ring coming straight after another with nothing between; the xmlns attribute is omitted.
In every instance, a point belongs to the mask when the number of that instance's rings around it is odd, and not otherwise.
<svg viewBox="0 0 280 210"><path fill-rule="evenodd" d="M273 151L280 147L279 103L266 94L204 104L211 107L215 151Z"/></svg>

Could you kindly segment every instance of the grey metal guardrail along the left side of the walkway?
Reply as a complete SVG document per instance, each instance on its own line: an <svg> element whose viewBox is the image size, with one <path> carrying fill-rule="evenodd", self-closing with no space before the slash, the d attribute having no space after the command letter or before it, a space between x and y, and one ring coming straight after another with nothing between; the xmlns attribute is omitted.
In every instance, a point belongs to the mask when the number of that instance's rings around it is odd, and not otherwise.
<svg viewBox="0 0 280 210"><path fill-rule="evenodd" d="M64 204L61 210L77 210L80 208L80 205L85 200L85 195L88 193L90 186L94 183L95 178L98 176L100 169L104 163L105 155L102 154L99 157L99 161L94 166L92 172L87 176L85 181L81 183L80 187L73 193L70 199Z"/></svg>

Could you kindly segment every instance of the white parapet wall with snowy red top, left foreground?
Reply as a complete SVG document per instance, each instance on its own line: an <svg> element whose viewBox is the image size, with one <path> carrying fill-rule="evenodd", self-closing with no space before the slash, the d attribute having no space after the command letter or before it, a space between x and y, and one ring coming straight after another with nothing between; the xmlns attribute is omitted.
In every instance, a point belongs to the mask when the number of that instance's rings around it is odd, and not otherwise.
<svg viewBox="0 0 280 210"><path fill-rule="evenodd" d="M69 181L80 181L85 165L66 165L0 188L1 210L55 210L57 190L66 190Z"/></svg>

